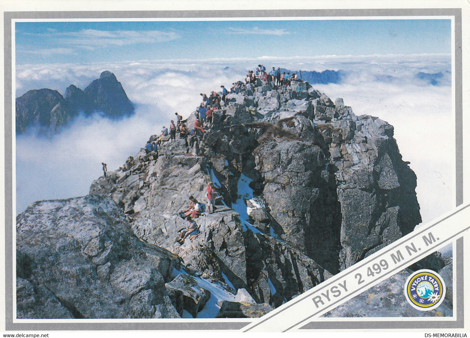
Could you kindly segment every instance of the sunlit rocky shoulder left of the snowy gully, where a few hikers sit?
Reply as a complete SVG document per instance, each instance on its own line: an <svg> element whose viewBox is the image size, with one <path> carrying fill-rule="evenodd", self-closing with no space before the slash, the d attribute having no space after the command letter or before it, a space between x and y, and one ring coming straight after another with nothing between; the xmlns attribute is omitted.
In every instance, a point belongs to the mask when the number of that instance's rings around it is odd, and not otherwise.
<svg viewBox="0 0 470 338"><path fill-rule="evenodd" d="M240 214L221 201L216 213L196 219L201 233L194 240L177 243L178 231L185 227L177 213L190 195L204 201L208 182L203 170L207 158L184 154L187 150L177 140L164 144L157 160L146 161L149 157L141 151L95 181L90 193L110 195L127 212L139 238L177 254L195 271L249 290L258 302L279 306L331 276L295 247L269 233L247 230ZM236 190L226 194L231 193Z"/></svg>

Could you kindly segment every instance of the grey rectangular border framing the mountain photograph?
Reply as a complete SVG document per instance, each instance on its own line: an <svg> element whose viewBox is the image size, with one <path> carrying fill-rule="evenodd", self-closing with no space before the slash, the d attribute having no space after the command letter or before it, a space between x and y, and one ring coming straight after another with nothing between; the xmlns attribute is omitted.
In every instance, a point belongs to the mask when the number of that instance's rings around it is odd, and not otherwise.
<svg viewBox="0 0 470 338"><path fill-rule="evenodd" d="M239 330L250 322L191 323L13 323L13 156L12 156L12 19L109 19L109 18L251 18L251 17L321 17L321 16L454 16L455 24L455 196L456 206L463 203L463 96L462 96L462 9L308 9L308 10L216 10L216 11L43 11L4 12L4 84L5 84L5 322L7 330ZM463 243L463 242L462 242ZM463 262L462 262L463 264ZM463 266L463 265L462 265ZM463 268L462 268L463 270ZM460 270L459 270L460 271ZM458 272L459 272L458 271ZM457 280L463 276L457 274ZM460 290L460 289L459 289ZM463 284L462 284L463 292ZM462 316L463 316L463 302ZM124 321L124 320L123 320ZM338 322L329 322L332 326ZM344 323L344 322L343 322ZM367 323L351 323L349 329L367 329ZM381 322L382 323L382 322ZM406 322L397 322L406 323ZM415 323L415 322L411 322ZM426 322L432 323L432 322ZM434 322L448 323L448 322ZM353 327L354 326L354 327ZM320 329L320 327L315 327ZM333 328L333 327L332 327ZM337 327L339 329L339 327ZM396 328L401 328L396 327ZM345 329L345 328L342 328Z"/></svg>

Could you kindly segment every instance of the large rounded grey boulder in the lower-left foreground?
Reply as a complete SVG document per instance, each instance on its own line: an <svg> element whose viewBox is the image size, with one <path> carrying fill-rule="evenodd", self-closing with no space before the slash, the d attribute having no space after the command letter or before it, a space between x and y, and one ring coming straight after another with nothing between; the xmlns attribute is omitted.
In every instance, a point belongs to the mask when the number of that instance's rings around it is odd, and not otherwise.
<svg viewBox="0 0 470 338"><path fill-rule="evenodd" d="M179 318L180 260L142 243L110 198L36 202L16 220L18 318Z"/></svg>

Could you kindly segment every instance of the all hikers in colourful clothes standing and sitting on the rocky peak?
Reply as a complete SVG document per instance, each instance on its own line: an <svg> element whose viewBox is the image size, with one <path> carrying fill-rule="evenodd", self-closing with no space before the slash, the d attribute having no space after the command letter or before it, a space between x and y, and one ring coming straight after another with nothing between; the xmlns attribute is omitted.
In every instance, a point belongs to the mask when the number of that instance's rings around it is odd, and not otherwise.
<svg viewBox="0 0 470 338"><path fill-rule="evenodd" d="M260 82L259 82L260 81ZM232 84L230 91L225 88L224 85L220 86L220 92L212 91L209 96L205 93L201 93L202 101L199 107L194 112L194 125L188 126L186 123L189 118L183 120L183 116L179 113L175 113L175 120L171 120L169 127L163 126L160 136L152 137L145 146L147 154L154 154L153 158L158 158L158 148L162 143L176 141L176 136L179 139L185 140L186 147L193 147L196 143L199 143L204 138L206 130L212 128L213 114L214 112L222 110L227 105L228 94L238 94L247 90L247 84L271 84L273 89L282 89L284 92L288 91L292 99L300 99L300 92L302 87L300 83L302 79L298 79L295 73L281 72L280 68L272 68L269 72L266 71L266 67L259 64L256 71L250 70L243 81L237 81ZM297 84L297 86L295 86ZM290 86L290 88L288 88ZM189 149L188 149L189 152ZM105 167L103 166L103 171ZM105 172L106 175L106 172ZM216 210L215 201L217 196L217 190L212 182L209 182L207 186L207 203L199 203L194 196L189 197L189 205L184 210L180 211L179 215L185 219L185 228L179 231L179 237L176 241L180 244L184 243L186 238L193 240L198 236L199 227L195 222L195 219L204 213L213 213Z"/></svg>

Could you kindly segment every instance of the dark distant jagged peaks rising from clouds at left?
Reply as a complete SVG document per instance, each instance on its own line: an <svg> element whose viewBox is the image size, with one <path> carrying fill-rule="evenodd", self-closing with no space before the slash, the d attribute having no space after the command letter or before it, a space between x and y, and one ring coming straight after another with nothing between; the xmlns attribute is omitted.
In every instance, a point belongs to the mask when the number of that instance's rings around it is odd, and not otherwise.
<svg viewBox="0 0 470 338"><path fill-rule="evenodd" d="M85 115L101 112L112 119L130 116L134 112L121 83L107 70L85 91L72 84L64 96L44 88L28 91L16 98L16 132L22 133L30 126L55 132L80 112Z"/></svg>

